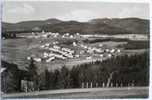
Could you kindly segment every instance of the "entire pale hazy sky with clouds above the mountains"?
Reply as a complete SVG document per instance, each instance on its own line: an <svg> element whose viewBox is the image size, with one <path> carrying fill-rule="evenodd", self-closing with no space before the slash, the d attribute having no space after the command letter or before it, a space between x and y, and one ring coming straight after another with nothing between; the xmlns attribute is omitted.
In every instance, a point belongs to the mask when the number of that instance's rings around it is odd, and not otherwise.
<svg viewBox="0 0 152 100"><path fill-rule="evenodd" d="M2 20L12 23L48 18L81 22L105 17L149 19L148 3L7 1L4 2L2 11Z"/></svg>

